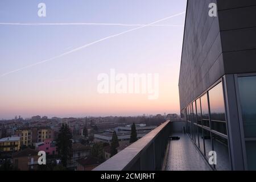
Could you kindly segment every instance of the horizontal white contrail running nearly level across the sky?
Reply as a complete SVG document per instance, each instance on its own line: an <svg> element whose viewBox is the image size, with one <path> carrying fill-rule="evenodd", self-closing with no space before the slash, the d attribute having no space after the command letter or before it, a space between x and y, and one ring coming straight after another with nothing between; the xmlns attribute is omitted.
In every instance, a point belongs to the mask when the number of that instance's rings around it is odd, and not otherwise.
<svg viewBox="0 0 256 182"><path fill-rule="evenodd" d="M123 23L0 23L0 25L13 26L69 26L69 25L90 25L90 26L123 26L123 27L138 27L147 24L123 24ZM182 27L182 24L150 24L152 27Z"/></svg>

